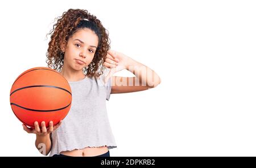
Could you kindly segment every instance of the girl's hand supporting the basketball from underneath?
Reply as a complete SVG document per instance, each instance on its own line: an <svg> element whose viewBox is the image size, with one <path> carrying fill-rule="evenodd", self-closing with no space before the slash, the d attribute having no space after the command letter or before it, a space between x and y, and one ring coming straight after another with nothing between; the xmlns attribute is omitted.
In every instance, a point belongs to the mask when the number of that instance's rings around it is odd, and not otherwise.
<svg viewBox="0 0 256 168"><path fill-rule="evenodd" d="M23 130L25 130L27 133L35 133L36 135L48 135L52 131L56 130L60 127L60 124L62 123L62 120L53 127L53 122L49 122L49 127L46 128L46 122L41 122L42 130L40 130L38 122L34 123L35 128L28 128L25 124L22 124Z"/></svg>

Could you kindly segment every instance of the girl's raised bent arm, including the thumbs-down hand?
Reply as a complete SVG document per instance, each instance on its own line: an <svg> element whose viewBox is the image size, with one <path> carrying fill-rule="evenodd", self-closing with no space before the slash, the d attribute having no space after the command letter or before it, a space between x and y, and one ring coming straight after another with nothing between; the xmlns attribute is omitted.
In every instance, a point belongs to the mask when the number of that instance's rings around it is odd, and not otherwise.
<svg viewBox="0 0 256 168"><path fill-rule="evenodd" d="M154 88L160 84L161 80L158 74L142 63L127 57L125 54L109 50L104 65L110 68L106 80L115 72L126 69L132 72L136 77L112 76L111 93L129 93L144 91Z"/></svg>

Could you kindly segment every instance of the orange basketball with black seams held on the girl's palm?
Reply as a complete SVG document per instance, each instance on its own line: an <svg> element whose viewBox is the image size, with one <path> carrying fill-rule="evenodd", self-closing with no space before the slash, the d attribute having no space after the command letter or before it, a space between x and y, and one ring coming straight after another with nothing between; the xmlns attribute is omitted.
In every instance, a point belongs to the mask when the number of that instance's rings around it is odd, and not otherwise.
<svg viewBox="0 0 256 168"><path fill-rule="evenodd" d="M10 92L11 109L16 117L34 128L52 120L55 126L71 108L72 93L68 81L59 72L47 67L31 68L20 74Z"/></svg>

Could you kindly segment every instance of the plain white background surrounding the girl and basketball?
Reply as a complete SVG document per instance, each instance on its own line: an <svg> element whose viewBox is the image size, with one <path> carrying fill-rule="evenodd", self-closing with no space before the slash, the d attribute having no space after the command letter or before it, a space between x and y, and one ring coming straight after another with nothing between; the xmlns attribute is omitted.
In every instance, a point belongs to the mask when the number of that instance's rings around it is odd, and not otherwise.
<svg viewBox="0 0 256 168"><path fill-rule="evenodd" d="M47 66L46 33L69 8L96 15L111 49L162 79L110 97L111 156L256 156L255 1L159 0L0 1L0 156L42 156L10 89L23 71Z"/></svg>

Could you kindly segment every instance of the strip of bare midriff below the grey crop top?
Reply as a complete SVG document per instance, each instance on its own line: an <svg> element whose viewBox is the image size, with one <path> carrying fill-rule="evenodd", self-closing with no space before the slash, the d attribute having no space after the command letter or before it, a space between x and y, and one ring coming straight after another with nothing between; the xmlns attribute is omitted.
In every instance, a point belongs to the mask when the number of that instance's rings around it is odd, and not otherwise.
<svg viewBox="0 0 256 168"><path fill-rule="evenodd" d="M102 147L86 147L84 149L75 149L72 151L64 151L60 152L60 154L64 154L66 156L98 156L108 152L107 146Z"/></svg>

